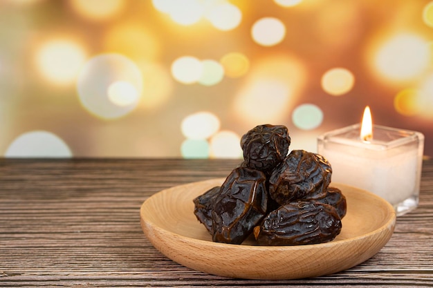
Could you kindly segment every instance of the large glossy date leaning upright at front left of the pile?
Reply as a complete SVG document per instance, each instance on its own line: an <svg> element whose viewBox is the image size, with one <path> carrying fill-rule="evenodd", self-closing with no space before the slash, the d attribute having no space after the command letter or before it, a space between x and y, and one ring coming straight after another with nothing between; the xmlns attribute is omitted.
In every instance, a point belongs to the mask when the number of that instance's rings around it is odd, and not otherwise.
<svg viewBox="0 0 433 288"><path fill-rule="evenodd" d="M241 244L266 214L268 194L263 172L238 167L228 175L212 210L212 240Z"/></svg>

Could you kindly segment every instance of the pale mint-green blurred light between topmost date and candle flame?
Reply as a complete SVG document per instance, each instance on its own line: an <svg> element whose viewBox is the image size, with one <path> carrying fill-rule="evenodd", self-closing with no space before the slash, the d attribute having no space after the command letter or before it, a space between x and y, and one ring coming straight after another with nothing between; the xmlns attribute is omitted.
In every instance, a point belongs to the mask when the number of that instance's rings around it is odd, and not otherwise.
<svg viewBox="0 0 433 288"><path fill-rule="evenodd" d="M323 112L314 104L302 104L293 111L292 121L297 128L312 130L322 124Z"/></svg>

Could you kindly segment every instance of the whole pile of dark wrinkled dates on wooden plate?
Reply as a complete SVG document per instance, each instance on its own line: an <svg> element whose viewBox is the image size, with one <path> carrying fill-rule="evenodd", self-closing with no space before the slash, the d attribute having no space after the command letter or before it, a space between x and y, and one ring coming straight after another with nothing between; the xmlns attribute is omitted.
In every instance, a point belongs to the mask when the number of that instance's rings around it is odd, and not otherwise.
<svg viewBox="0 0 433 288"><path fill-rule="evenodd" d="M261 245L329 242L342 228L346 198L331 187L329 162L293 150L282 125L256 126L241 138L243 162L221 186L194 199L194 214L214 242Z"/></svg>

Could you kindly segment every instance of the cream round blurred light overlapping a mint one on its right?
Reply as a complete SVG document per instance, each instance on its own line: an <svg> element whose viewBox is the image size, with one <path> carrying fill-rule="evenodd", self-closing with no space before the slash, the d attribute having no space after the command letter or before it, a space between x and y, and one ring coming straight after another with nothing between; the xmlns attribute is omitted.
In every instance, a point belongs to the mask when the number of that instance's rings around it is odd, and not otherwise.
<svg viewBox="0 0 433 288"><path fill-rule="evenodd" d="M199 81L202 72L203 66L196 57L179 57L172 64L172 76L183 84L193 84Z"/></svg>

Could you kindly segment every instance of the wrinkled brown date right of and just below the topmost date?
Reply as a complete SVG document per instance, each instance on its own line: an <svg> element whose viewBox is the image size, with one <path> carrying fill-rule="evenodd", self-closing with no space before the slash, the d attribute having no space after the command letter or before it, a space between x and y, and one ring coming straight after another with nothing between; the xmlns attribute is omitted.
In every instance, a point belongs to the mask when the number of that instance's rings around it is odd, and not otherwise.
<svg viewBox="0 0 433 288"><path fill-rule="evenodd" d="M293 150L269 177L269 195L278 204L311 198L331 183L332 169L322 155Z"/></svg>

